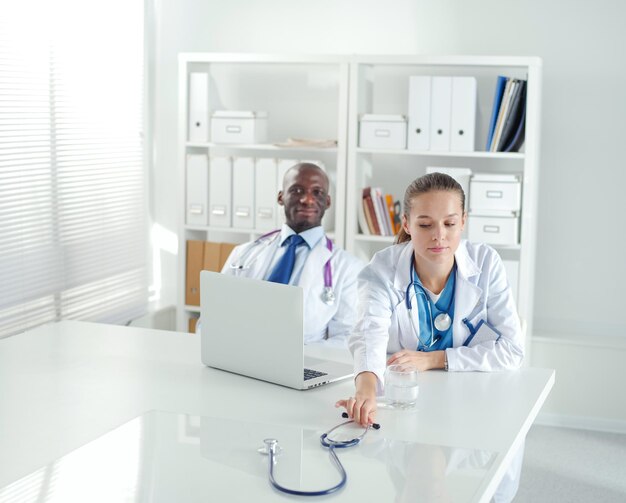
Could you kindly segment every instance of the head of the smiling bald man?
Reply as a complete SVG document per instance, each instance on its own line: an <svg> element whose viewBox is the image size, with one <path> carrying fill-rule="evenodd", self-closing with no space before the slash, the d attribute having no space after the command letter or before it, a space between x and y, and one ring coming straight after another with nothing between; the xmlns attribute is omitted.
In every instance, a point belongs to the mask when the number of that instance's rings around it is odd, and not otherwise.
<svg viewBox="0 0 626 503"><path fill-rule="evenodd" d="M315 166L289 170L278 193L278 204L285 207L287 225L296 233L321 225L330 207L328 178Z"/></svg>

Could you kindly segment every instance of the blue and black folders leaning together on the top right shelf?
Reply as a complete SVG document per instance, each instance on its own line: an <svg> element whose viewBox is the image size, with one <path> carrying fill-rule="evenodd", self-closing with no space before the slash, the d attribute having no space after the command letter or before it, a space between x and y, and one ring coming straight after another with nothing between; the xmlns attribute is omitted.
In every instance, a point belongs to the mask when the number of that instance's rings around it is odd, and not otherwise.
<svg viewBox="0 0 626 503"><path fill-rule="evenodd" d="M524 144L526 81L498 76L487 133L488 152L517 152Z"/></svg>

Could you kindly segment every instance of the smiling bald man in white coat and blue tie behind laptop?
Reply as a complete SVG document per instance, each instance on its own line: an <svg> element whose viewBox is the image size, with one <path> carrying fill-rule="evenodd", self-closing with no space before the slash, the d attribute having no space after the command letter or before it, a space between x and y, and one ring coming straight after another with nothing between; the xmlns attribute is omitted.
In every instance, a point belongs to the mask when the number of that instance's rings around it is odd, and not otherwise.
<svg viewBox="0 0 626 503"><path fill-rule="evenodd" d="M291 167L278 192L285 224L237 246L222 273L302 287L305 344L345 345L356 322L357 276L364 263L324 234L328 189L328 176L319 166Z"/></svg>

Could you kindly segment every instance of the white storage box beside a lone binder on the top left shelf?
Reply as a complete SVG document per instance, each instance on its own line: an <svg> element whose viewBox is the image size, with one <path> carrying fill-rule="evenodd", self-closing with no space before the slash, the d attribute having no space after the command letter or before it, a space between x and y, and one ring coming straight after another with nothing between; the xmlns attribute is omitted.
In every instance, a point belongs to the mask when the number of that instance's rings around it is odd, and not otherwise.
<svg viewBox="0 0 626 503"><path fill-rule="evenodd" d="M266 112L220 110L211 116L213 143L267 143Z"/></svg>

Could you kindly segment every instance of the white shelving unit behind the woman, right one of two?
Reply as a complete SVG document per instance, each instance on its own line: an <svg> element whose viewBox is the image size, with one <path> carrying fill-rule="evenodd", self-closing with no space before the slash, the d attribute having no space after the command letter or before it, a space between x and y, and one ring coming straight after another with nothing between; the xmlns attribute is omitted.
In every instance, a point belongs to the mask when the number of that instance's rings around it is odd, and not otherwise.
<svg viewBox="0 0 626 503"><path fill-rule="evenodd" d="M358 146L362 114L408 112L408 83L414 75L471 76L477 79L476 151L441 152L374 150ZM493 95L498 75L526 79L526 134L523 152L485 152ZM503 259L518 264L516 291L526 333L532 333L532 297L535 263L536 194L539 169L539 113L541 60L521 57L357 56L350 68L348 172L346 193L346 249L367 260L389 246L391 237L359 232L361 189L382 187L402 201L408 184L425 174L426 167L464 167L473 173L516 174L522 180L520 240L518 245L495 246Z"/></svg>

